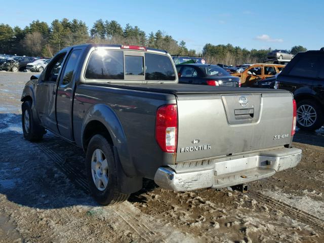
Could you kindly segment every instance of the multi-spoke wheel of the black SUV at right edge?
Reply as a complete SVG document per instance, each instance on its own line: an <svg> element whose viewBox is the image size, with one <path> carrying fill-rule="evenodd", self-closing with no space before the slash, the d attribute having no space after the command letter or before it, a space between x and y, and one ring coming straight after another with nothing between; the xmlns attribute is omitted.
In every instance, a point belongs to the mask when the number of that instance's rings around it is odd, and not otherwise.
<svg viewBox="0 0 324 243"><path fill-rule="evenodd" d="M297 103L297 126L301 130L315 131L323 126L324 114L321 107L313 100Z"/></svg>

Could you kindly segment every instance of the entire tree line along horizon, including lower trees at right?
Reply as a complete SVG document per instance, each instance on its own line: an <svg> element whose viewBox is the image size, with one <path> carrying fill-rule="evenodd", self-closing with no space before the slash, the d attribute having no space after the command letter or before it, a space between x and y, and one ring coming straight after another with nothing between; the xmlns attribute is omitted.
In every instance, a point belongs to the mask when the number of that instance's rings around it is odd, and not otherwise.
<svg viewBox="0 0 324 243"><path fill-rule="evenodd" d="M85 22L63 18L54 20L50 25L35 20L25 28L0 24L0 53L28 56L53 57L59 50L84 43L138 45L163 49L172 55L202 55L207 63L242 64L262 61L267 50L247 50L227 45L206 44L202 53L188 50L184 41L177 42L171 35L157 30L145 33L138 26L127 24L122 27L117 21L97 20L91 29ZM289 50L292 54L306 51L302 46Z"/></svg>

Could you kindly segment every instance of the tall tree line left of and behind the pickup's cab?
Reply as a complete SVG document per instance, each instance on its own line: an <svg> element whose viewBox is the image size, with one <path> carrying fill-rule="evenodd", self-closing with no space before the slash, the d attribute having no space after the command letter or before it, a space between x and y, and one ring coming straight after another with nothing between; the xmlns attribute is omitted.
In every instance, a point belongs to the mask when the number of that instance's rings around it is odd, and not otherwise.
<svg viewBox="0 0 324 243"><path fill-rule="evenodd" d="M66 18L46 22L32 21L24 29L0 24L0 53L52 57L59 50L84 43L139 45L167 50L177 55L196 55L186 43L178 43L161 30L148 35L138 26L124 28L115 20L97 20L89 30L85 22Z"/></svg>

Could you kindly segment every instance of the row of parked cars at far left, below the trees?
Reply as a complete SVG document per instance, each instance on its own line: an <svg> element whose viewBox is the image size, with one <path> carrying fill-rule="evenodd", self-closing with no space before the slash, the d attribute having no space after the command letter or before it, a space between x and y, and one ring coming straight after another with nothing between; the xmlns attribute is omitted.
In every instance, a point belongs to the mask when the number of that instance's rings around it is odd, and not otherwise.
<svg viewBox="0 0 324 243"><path fill-rule="evenodd" d="M26 56L0 55L0 71L42 72L50 62L49 58L36 58Z"/></svg>

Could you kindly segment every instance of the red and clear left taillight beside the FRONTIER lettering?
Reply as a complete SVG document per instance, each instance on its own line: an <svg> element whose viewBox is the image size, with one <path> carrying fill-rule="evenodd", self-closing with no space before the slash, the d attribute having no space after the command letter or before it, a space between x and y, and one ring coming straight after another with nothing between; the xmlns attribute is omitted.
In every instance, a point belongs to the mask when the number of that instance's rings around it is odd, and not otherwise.
<svg viewBox="0 0 324 243"><path fill-rule="evenodd" d="M156 111L155 139L164 152L177 151L178 110L176 104L167 104Z"/></svg>

